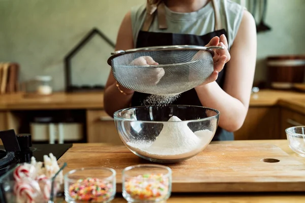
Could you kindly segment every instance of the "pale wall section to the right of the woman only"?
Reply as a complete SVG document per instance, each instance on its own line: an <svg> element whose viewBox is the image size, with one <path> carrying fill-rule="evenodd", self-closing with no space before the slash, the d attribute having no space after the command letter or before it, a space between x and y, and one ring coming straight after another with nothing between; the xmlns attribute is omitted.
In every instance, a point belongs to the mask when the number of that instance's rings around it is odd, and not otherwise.
<svg viewBox="0 0 305 203"><path fill-rule="evenodd" d="M268 0L267 2L266 24L272 30L258 33L255 80L266 79L266 56L305 54L305 1Z"/></svg>

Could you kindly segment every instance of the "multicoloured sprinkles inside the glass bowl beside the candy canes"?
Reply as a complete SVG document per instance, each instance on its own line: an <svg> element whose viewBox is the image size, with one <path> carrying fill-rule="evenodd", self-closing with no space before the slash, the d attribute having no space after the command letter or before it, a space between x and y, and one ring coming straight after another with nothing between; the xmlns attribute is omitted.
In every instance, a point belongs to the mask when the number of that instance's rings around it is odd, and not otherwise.
<svg viewBox="0 0 305 203"><path fill-rule="evenodd" d="M98 178L79 179L69 187L69 194L75 200L89 202L107 201L113 193L113 185Z"/></svg>

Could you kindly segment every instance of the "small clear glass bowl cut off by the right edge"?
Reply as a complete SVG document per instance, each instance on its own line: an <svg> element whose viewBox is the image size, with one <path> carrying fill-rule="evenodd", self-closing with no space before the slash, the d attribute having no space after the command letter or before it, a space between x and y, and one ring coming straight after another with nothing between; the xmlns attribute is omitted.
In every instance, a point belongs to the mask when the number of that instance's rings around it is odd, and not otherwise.
<svg viewBox="0 0 305 203"><path fill-rule="evenodd" d="M285 131L290 149L305 157L305 126L289 127Z"/></svg>

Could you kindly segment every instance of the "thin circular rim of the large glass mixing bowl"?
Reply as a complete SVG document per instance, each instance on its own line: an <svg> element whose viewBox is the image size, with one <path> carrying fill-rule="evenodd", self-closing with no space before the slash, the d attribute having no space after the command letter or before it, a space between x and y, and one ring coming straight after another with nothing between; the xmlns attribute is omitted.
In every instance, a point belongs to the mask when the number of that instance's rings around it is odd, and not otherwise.
<svg viewBox="0 0 305 203"><path fill-rule="evenodd" d="M158 107L157 105L148 105L148 106L136 106L136 107L129 107L125 109L120 109L116 112L113 113L113 118L114 120L119 120L119 121L133 121L133 122L142 122L142 123L165 123L165 122L185 122L185 123L190 123L190 122L201 122L201 121L206 121L206 120L212 120L214 118L219 117L220 112L217 109L212 109L209 107L201 107L201 106L194 106L194 105L166 105L165 107L195 107L195 108L201 108L201 109L207 109L216 112L216 115L214 116L209 116L206 118L200 118L200 119L192 119L192 120L181 120L181 121L145 121L145 120L132 120L128 118L121 118L116 116L118 113L123 112L123 111L129 111L131 109L136 109L136 108L150 108L150 107Z"/></svg>

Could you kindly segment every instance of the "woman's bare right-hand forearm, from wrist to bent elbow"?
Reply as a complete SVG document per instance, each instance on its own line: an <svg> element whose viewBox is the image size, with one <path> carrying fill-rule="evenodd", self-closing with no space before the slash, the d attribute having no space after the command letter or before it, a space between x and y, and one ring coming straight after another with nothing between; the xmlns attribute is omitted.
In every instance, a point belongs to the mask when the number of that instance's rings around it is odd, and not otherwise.
<svg viewBox="0 0 305 203"><path fill-rule="evenodd" d="M220 112L219 126L228 131L239 129L246 118L248 107L226 93L216 82L195 88L202 106Z"/></svg>

